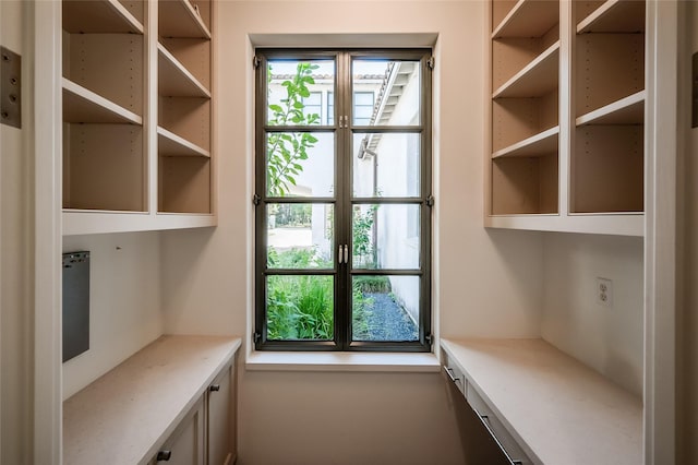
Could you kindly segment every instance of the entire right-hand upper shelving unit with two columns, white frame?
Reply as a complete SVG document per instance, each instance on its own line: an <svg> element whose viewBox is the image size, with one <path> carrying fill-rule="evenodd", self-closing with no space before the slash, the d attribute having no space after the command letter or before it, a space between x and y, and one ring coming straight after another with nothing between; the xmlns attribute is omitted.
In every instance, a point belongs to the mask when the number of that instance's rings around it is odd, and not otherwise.
<svg viewBox="0 0 698 465"><path fill-rule="evenodd" d="M645 9L491 2L485 226L643 235Z"/></svg>

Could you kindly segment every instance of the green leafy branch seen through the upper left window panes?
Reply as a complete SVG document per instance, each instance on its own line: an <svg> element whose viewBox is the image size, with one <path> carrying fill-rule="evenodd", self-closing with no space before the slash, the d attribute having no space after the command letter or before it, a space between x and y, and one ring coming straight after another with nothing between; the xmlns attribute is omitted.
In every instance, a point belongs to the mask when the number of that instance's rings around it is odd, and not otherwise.
<svg viewBox="0 0 698 465"><path fill-rule="evenodd" d="M320 115L305 115L303 98L310 97L309 85L315 84L312 76L318 67L299 62L291 80L284 81L286 98L281 105L269 105L269 126L310 126L320 123ZM268 69L272 76L272 67ZM302 162L308 159L308 150L315 146L317 138L309 132L270 132L267 139L267 193L285 196L296 178L303 171Z"/></svg>

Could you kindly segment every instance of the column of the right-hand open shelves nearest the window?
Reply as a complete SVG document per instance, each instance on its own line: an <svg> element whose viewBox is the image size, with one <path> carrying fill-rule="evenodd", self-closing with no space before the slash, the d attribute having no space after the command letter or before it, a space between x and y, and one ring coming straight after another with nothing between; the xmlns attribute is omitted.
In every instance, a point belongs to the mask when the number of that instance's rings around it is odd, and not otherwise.
<svg viewBox="0 0 698 465"><path fill-rule="evenodd" d="M491 212L556 214L559 7L530 0L492 5Z"/></svg>

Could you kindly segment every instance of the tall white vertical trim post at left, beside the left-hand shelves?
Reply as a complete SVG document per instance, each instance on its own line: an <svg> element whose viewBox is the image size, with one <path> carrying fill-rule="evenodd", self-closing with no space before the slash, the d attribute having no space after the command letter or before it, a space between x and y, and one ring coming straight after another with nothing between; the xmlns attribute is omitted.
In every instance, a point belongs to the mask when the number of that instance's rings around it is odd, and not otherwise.
<svg viewBox="0 0 698 465"><path fill-rule="evenodd" d="M61 463L61 2L34 2L34 463Z"/></svg>

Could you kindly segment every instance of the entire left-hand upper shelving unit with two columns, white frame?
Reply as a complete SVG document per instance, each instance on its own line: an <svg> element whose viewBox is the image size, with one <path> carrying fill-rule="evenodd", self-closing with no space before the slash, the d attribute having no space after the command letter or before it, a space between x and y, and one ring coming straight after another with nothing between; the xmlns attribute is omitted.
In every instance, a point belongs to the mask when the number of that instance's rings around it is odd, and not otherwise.
<svg viewBox="0 0 698 465"><path fill-rule="evenodd" d="M209 0L63 0L64 235L216 224L212 19Z"/></svg>

